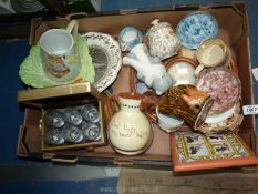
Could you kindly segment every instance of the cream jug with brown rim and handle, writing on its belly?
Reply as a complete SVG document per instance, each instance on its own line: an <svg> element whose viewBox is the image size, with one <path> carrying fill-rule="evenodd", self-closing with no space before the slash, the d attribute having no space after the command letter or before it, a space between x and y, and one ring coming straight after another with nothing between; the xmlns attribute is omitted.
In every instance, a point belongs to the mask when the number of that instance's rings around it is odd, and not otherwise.
<svg viewBox="0 0 258 194"><path fill-rule="evenodd" d="M142 98L137 93L121 93L111 96L107 102L109 141L121 154L141 154L151 145L153 132L147 116L140 110ZM112 111L114 101L120 104L115 114Z"/></svg>

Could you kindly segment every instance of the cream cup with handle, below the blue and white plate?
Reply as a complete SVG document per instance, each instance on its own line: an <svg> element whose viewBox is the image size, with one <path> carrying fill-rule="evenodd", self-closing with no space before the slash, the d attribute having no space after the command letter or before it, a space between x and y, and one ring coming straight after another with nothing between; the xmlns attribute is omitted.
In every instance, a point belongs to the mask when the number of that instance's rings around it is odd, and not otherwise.
<svg viewBox="0 0 258 194"><path fill-rule="evenodd" d="M195 75L205 68L213 68L221 64L227 57L227 47L220 39L208 39L204 41L196 51L199 65L195 69Z"/></svg>

